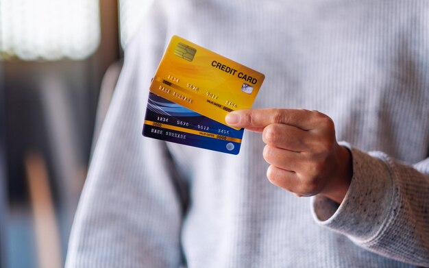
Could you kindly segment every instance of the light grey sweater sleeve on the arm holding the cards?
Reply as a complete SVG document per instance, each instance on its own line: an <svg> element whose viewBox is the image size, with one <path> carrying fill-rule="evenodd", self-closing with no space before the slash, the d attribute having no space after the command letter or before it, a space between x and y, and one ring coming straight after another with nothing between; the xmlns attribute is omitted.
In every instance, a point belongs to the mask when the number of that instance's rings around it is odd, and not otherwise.
<svg viewBox="0 0 429 268"><path fill-rule="evenodd" d="M352 182L340 205L312 197L317 223L376 254L429 267L429 158L408 166L343 145L352 151Z"/></svg>

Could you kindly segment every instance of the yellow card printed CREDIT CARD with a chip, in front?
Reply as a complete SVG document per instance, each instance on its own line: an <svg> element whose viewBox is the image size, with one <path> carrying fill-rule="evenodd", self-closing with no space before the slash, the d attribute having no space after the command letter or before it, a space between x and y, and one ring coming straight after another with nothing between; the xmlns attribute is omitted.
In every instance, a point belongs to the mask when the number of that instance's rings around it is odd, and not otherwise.
<svg viewBox="0 0 429 268"><path fill-rule="evenodd" d="M173 36L150 91L219 123L248 109L265 75L188 40Z"/></svg>

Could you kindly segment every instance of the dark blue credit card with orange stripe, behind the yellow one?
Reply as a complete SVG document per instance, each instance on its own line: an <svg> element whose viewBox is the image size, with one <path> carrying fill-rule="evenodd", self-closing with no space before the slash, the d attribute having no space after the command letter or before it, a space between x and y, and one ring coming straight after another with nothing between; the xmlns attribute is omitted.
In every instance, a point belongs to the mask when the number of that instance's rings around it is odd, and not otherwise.
<svg viewBox="0 0 429 268"><path fill-rule="evenodd" d="M149 93L143 136L238 154L244 129L235 130L177 103Z"/></svg>

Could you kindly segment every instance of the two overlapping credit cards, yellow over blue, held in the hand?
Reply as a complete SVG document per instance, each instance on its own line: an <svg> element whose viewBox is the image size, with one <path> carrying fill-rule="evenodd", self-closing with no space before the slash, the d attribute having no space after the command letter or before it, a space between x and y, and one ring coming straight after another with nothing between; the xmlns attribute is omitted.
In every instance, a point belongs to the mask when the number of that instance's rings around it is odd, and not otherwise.
<svg viewBox="0 0 429 268"><path fill-rule="evenodd" d="M149 88L143 135L238 154L244 130L226 125L225 116L251 108L264 78L173 36Z"/></svg>

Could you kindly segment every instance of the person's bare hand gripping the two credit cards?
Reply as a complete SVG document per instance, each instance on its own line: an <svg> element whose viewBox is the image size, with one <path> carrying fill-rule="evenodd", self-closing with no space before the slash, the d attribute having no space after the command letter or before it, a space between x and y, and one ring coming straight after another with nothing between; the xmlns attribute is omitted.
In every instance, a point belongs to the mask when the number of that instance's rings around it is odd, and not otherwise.
<svg viewBox="0 0 429 268"><path fill-rule="evenodd" d="M350 151L336 143L334 122L312 110L237 110L228 125L262 132L269 181L297 196L325 195L341 203L352 180Z"/></svg>

